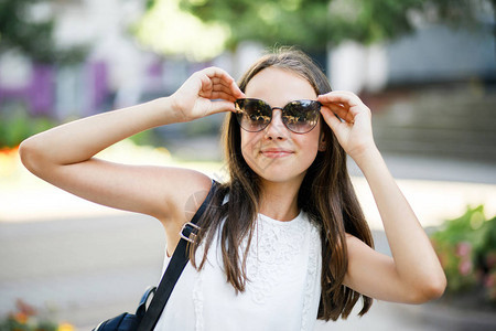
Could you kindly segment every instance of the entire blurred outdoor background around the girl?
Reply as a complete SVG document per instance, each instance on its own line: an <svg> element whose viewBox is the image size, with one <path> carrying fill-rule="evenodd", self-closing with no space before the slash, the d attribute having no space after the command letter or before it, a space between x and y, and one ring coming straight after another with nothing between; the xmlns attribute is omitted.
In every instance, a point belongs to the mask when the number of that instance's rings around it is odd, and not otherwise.
<svg viewBox="0 0 496 331"><path fill-rule="evenodd" d="M449 277L440 300L376 302L319 330L496 329L496 1L1 0L0 330L90 330L160 277L159 222L30 174L18 146L62 122L172 94L193 72L235 78L295 45L373 110L376 142ZM145 131L101 153L226 179L224 115ZM377 249L371 194L349 171ZM448 221L450 220L450 221ZM2 329L3 328L3 329ZM30 329L31 328L31 329Z"/></svg>

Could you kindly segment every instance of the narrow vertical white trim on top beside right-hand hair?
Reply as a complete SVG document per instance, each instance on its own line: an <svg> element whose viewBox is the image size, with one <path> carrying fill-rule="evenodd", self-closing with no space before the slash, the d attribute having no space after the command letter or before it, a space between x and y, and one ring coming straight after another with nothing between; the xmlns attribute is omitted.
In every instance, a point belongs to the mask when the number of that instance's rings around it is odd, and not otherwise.
<svg viewBox="0 0 496 331"><path fill-rule="evenodd" d="M320 234L317 227L312 226L310 229L310 249L309 249L309 266L306 268L306 284L304 288L304 301L302 311L301 330L309 330L309 325L314 324L315 316L311 316L313 311L312 305L315 296L315 287L319 286L321 278L321 265L320 263ZM311 321L310 319L313 319Z"/></svg>

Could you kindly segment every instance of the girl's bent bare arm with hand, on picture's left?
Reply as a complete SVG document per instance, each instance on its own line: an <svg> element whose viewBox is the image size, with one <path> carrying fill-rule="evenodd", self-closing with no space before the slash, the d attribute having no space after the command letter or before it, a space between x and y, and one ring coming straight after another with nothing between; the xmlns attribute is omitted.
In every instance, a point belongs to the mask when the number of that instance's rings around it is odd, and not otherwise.
<svg viewBox="0 0 496 331"><path fill-rule="evenodd" d="M33 136L21 143L21 160L35 175L84 199L152 215L165 227L172 226L170 220L184 223L187 199L208 190L208 178L183 169L117 164L94 156L153 127L231 111L234 99L241 95L224 71L206 68L193 74L170 97L79 119Z"/></svg>

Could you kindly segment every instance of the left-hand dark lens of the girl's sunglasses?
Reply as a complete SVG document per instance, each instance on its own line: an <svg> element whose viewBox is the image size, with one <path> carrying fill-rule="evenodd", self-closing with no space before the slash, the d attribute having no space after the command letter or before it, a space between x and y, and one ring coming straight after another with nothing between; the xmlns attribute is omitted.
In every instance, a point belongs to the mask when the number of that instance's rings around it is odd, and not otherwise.
<svg viewBox="0 0 496 331"><path fill-rule="evenodd" d="M239 126L250 132L263 130L272 118L272 109L262 100L238 99L235 106Z"/></svg>

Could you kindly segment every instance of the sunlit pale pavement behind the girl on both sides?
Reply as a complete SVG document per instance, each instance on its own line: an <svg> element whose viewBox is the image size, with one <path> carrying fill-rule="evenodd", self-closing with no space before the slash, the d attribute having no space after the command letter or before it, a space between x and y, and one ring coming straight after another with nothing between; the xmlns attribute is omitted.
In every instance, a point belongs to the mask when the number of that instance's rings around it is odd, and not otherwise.
<svg viewBox="0 0 496 331"><path fill-rule="evenodd" d="M496 215L494 164L395 156L386 161L425 227L461 215L467 204L484 204L488 217ZM193 168L223 177L220 163ZM366 181L353 163L351 173L377 248L387 252ZM32 175L21 178L21 185L0 185L0 316L23 298L89 330L101 319L136 309L142 290L160 275L160 224L83 201ZM376 302L363 318L319 323L317 330L444 330L428 324L421 310Z"/></svg>

